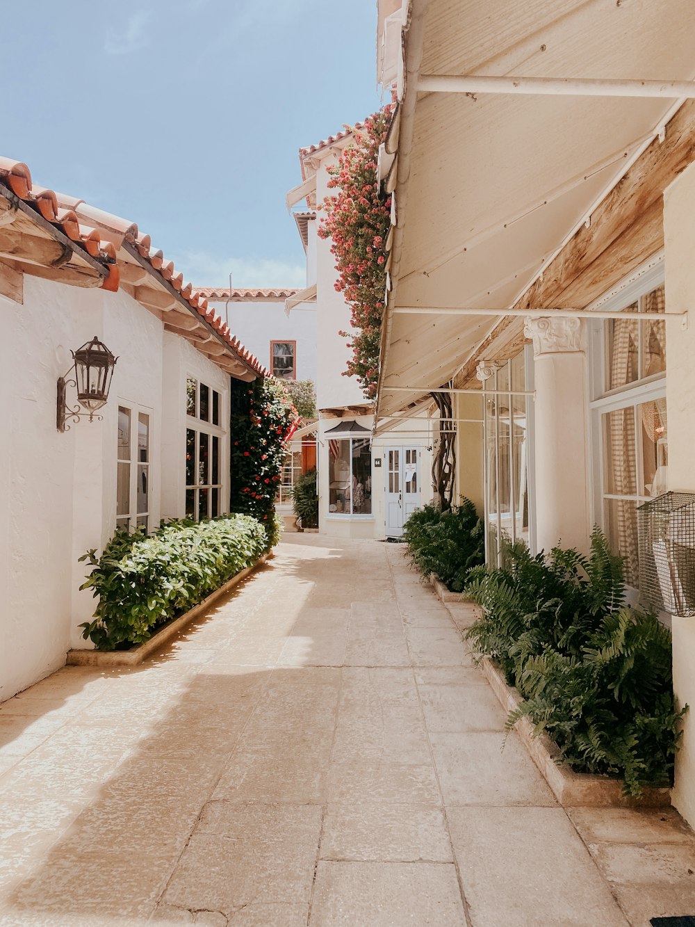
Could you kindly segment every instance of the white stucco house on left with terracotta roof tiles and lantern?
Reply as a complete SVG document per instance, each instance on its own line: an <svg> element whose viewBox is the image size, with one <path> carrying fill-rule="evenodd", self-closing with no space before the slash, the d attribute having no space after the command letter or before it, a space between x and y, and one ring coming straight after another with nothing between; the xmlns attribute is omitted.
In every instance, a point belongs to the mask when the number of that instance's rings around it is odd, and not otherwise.
<svg viewBox="0 0 695 927"><path fill-rule="evenodd" d="M83 552L117 525L228 511L230 377L265 371L136 225L7 159L0 293L1 701L85 645ZM117 361L90 422L70 381L72 351L95 337Z"/></svg>

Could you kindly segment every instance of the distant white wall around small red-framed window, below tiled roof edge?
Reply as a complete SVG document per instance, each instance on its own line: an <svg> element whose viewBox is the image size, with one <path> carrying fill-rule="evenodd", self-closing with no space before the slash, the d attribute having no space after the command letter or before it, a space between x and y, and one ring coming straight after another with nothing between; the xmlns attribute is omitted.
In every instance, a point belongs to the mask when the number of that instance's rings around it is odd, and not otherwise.
<svg viewBox="0 0 695 927"><path fill-rule="evenodd" d="M209 306L225 318L224 300L209 301ZM271 341L297 342L297 380L316 382L316 303L305 303L293 309L289 318L284 302L229 303L229 327L247 350L258 357L264 367L272 370Z"/></svg>

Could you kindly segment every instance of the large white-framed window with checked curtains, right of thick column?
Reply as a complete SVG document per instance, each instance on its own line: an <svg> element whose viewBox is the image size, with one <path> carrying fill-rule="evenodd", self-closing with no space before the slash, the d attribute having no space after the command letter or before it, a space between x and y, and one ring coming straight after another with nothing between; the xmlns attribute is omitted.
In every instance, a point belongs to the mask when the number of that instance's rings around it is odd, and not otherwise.
<svg viewBox="0 0 695 927"><path fill-rule="evenodd" d="M661 265L605 307L665 311ZM626 582L637 588L637 508L667 489L665 322L593 322L590 345L594 521L624 557Z"/></svg>

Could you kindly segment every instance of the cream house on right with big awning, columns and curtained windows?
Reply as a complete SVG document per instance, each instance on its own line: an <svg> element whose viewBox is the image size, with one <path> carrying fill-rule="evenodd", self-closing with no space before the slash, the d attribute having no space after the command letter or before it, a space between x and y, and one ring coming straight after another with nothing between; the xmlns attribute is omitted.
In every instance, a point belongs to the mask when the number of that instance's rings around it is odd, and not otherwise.
<svg viewBox="0 0 695 927"><path fill-rule="evenodd" d="M399 387L453 382L457 487L489 563L503 534L586 551L603 529L633 598L672 625L690 705L673 803L695 824L695 101L677 84L695 9L513 2L504 20L379 2L399 102L376 420L402 409ZM638 509L666 490L689 508L660 541Z"/></svg>

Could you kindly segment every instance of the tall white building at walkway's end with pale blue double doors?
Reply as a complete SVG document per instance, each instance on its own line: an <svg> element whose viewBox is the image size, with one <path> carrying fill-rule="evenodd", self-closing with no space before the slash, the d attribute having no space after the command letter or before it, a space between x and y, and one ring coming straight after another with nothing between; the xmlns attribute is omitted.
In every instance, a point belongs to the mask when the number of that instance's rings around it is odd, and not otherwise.
<svg viewBox="0 0 695 927"><path fill-rule="evenodd" d="M373 404L353 377L343 375L349 349L340 332L349 330L350 310L335 290L331 243L318 235L317 225L331 192L327 169L352 140L346 130L300 149L302 183L287 194L287 205L306 199L309 206L294 214L307 253L308 286L285 305L291 318L302 306L316 306L319 530L342 538L398 538L408 515L432 497L434 430L422 417L373 433Z"/></svg>

